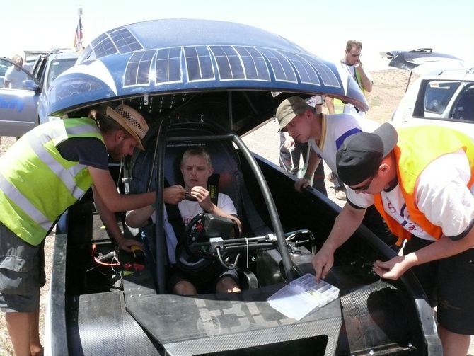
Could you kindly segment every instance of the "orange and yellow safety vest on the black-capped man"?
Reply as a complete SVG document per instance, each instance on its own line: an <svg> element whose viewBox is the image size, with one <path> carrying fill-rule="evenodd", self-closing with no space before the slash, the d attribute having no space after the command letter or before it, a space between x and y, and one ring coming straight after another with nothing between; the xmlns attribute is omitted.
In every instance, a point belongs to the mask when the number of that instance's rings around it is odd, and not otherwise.
<svg viewBox="0 0 474 356"><path fill-rule="evenodd" d="M397 161L398 184L402 190L403 199L407 205L410 219L435 239L442 234L441 226L429 222L416 202L417 180L424 168L438 157L463 149L468 156L470 166L470 180L467 184L474 184L474 142L470 137L457 130L436 125L407 127L398 129L398 143L393 152ZM382 197L374 195L374 205L380 212L388 228L398 236L397 245L403 239L411 238L410 231L403 228L391 215L383 209Z"/></svg>

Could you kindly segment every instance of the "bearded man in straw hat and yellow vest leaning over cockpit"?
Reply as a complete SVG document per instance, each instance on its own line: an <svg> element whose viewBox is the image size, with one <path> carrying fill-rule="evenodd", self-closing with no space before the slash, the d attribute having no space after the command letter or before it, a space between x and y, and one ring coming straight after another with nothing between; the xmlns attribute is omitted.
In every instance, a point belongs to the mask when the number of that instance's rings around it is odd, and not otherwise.
<svg viewBox="0 0 474 356"><path fill-rule="evenodd" d="M108 233L129 251L140 243L125 239L114 212L156 200L155 192L118 193L108 165L108 156L120 160L136 147L143 149L141 139L148 131L144 117L128 105L104 109L91 117L39 125L0 157L0 310L15 355L42 355L44 241L58 217L92 188ZM168 190L169 202L185 197L183 187Z"/></svg>

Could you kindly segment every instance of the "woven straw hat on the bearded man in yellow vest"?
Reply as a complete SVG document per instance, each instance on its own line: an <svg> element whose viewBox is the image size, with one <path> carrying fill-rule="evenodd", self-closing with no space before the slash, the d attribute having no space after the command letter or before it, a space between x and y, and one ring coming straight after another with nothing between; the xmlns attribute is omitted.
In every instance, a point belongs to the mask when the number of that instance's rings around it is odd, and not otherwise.
<svg viewBox="0 0 474 356"><path fill-rule="evenodd" d="M128 105L120 104L117 108L112 109L110 106L107 107L107 115L112 117L113 120L117 121L134 139L138 142L138 147L141 151L144 151L144 147L141 144L141 139L145 137L148 132L148 125L141 114L134 108L130 108Z"/></svg>

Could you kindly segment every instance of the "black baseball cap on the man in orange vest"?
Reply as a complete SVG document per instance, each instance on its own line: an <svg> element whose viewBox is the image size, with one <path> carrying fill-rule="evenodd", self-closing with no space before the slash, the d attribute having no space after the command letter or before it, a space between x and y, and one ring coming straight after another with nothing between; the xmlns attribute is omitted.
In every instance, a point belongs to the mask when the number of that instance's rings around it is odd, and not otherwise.
<svg viewBox="0 0 474 356"><path fill-rule="evenodd" d="M374 176L383 157L397 142L397 131L388 122L374 132L358 132L347 137L336 153L337 175L347 185L362 183Z"/></svg>

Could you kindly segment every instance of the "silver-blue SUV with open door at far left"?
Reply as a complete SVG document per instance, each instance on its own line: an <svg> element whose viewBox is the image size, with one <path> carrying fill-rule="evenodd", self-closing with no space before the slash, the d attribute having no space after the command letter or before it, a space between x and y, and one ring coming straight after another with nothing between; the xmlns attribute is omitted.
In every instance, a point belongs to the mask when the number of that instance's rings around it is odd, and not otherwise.
<svg viewBox="0 0 474 356"><path fill-rule="evenodd" d="M76 63L79 54L71 50L52 50L37 57L26 73L21 89L0 87L0 136L21 137L36 125L49 120L47 105L52 81ZM0 58L0 68L16 66L6 58Z"/></svg>

